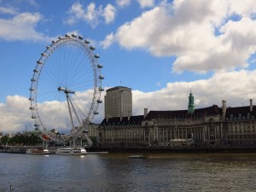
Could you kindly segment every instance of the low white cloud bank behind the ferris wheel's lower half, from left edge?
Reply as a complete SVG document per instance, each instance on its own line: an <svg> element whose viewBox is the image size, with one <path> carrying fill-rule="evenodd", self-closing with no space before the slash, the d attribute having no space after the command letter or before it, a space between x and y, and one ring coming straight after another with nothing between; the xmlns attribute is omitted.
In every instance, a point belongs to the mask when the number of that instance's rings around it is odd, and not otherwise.
<svg viewBox="0 0 256 192"><path fill-rule="evenodd" d="M77 92L73 98L73 106L79 119L87 117L90 109L92 91ZM98 108L99 114L93 119L93 122L100 123L104 117L104 104ZM31 106L28 98L23 96L7 96L5 103L0 103L0 132L25 131L34 129L34 119L29 109ZM56 129L60 132L67 132L71 129L71 121L67 110L67 102L51 101L37 103L40 120L50 131ZM38 116L38 115L36 115ZM74 115L73 115L74 116ZM78 125L78 119L74 116L73 121ZM42 128L42 127L41 127ZM43 128L42 128L43 129Z"/></svg>

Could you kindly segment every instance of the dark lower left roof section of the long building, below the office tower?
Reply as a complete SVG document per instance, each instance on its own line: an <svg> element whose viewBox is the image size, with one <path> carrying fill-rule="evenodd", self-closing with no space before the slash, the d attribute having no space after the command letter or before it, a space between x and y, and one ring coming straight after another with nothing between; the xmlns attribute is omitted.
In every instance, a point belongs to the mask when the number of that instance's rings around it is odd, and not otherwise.
<svg viewBox="0 0 256 192"><path fill-rule="evenodd" d="M131 116L130 119L128 117L114 117L103 119L100 126L106 125L141 125L144 119L144 115Z"/></svg>

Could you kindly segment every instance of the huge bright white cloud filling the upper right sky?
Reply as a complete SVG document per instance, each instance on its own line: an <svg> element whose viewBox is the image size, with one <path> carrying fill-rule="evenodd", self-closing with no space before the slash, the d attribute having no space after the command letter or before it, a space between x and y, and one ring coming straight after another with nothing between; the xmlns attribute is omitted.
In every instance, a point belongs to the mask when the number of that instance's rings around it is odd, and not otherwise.
<svg viewBox="0 0 256 192"><path fill-rule="evenodd" d="M156 56L175 55L172 71L176 73L245 68L255 50L256 20L250 18L255 14L254 1L162 3L119 26L105 38L106 46L115 41L126 49L143 48ZM241 20L232 20L234 15Z"/></svg>

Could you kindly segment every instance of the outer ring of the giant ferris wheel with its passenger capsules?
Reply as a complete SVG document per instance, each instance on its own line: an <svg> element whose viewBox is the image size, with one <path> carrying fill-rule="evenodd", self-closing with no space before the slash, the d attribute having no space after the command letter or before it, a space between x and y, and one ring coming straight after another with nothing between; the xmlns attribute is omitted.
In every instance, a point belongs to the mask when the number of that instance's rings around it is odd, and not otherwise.
<svg viewBox="0 0 256 192"><path fill-rule="evenodd" d="M94 86L93 86L93 94L90 103L89 113L86 119L83 120L82 125L79 129L73 129L70 133L65 136L56 135L52 131L49 131L47 127L44 126L44 119L40 118L40 113L38 112L38 82L42 73L42 69L44 67L45 62L49 59L51 55L55 53L55 50L59 49L61 46L67 46L68 44L73 44L79 47L79 49L83 49L84 54L88 56L90 60L90 65L93 69L94 74ZM97 108L101 100L102 89L102 77L101 69L102 65L99 64L98 59L99 55L94 54L93 50L95 49L93 46L89 46L90 42L84 39L81 36L77 36L75 34L65 35L65 37L59 37L57 40L52 41L52 44L46 47L44 52L41 54L40 59L37 61L36 67L33 70L33 75L31 79L31 88L30 88L30 109L32 111L32 119L34 119L34 126L36 129L38 128L45 137L48 137L51 140L55 141L67 141L70 137L74 137L81 131L84 125L88 125L94 116L98 114ZM60 88L61 89L61 88ZM63 88L64 89L64 88ZM62 90L63 90L62 89ZM67 89L67 88L66 88ZM45 139L45 138L44 138Z"/></svg>

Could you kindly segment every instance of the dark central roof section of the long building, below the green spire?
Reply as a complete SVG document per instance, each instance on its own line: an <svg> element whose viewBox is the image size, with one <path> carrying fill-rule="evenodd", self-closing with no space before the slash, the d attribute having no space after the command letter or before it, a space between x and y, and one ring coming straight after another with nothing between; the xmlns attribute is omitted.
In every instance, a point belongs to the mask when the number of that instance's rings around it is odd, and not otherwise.
<svg viewBox="0 0 256 192"><path fill-rule="evenodd" d="M208 108L197 108L193 114L189 114L188 110L176 110L176 111L150 111L145 120L151 119L195 119L201 118L206 115L218 115L220 114L220 108L217 105L212 105Z"/></svg>

